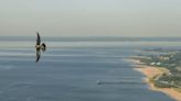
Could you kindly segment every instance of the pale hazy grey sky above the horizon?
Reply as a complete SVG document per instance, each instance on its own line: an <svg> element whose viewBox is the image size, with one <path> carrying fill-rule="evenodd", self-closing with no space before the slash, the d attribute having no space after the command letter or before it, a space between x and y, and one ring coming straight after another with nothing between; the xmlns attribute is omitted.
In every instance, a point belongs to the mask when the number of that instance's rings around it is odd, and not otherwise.
<svg viewBox="0 0 181 101"><path fill-rule="evenodd" d="M181 36L181 0L0 0L0 35Z"/></svg>

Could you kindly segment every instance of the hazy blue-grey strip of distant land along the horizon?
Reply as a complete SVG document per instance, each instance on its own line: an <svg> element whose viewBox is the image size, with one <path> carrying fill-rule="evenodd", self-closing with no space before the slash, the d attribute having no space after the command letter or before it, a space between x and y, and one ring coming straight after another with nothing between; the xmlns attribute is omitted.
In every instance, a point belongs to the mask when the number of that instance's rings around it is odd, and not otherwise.
<svg viewBox="0 0 181 101"><path fill-rule="evenodd" d="M0 36L0 41L34 41L34 36ZM120 36L44 36L53 42L180 42L181 37L120 37Z"/></svg>

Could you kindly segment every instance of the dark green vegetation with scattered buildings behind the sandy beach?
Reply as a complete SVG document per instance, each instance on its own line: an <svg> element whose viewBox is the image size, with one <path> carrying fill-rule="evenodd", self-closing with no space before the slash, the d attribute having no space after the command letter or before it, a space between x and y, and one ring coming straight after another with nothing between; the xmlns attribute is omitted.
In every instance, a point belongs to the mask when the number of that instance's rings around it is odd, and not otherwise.
<svg viewBox="0 0 181 101"><path fill-rule="evenodd" d="M139 54L137 57L134 58L139 59L147 66L164 68L168 70L161 75L149 78L149 81L152 82L155 87L173 88L177 91L181 92L181 52L172 50L172 53L170 53L170 50L166 49L156 49L156 52L157 54L152 55Z"/></svg>

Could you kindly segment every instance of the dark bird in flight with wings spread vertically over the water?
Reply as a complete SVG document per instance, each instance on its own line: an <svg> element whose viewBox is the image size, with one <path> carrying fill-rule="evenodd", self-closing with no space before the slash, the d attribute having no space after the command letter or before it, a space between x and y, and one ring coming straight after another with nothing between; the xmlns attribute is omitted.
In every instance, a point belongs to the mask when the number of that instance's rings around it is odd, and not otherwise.
<svg viewBox="0 0 181 101"><path fill-rule="evenodd" d="M35 60L35 63L38 63L40 57L41 57L41 50L42 52L46 50L46 45L44 43L41 44L41 37L39 35L39 32L36 32L36 34L38 34L38 38L36 38L36 45L35 45L35 48L36 48L36 60Z"/></svg>

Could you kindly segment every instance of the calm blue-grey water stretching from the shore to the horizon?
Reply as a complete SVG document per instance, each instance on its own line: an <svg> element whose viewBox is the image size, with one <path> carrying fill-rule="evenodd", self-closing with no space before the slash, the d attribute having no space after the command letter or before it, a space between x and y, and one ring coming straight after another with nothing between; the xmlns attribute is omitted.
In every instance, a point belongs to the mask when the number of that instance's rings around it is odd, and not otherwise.
<svg viewBox="0 0 181 101"><path fill-rule="evenodd" d="M179 42L50 40L35 64L33 40L6 38L0 42L0 101L173 101L150 91L124 59L141 48L178 48Z"/></svg>

